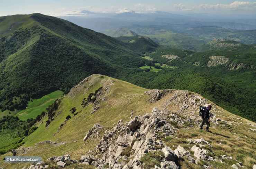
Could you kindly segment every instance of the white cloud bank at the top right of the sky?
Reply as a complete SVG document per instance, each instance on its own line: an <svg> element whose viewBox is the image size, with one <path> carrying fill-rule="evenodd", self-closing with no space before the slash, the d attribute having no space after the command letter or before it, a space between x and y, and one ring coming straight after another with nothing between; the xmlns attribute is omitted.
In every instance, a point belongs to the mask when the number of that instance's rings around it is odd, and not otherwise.
<svg viewBox="0 0 256 169"><path fill-rule="evenodd" d="M212 11L224 11L224 10L237 10L237 11L253 11L256 9L256 2L247 2L247 1L234 1L230 4L200 4L198 6L191 6L186 7L182 3L175 4L174 8L181 11L187 11L187 10L212 10Z"/></svg>

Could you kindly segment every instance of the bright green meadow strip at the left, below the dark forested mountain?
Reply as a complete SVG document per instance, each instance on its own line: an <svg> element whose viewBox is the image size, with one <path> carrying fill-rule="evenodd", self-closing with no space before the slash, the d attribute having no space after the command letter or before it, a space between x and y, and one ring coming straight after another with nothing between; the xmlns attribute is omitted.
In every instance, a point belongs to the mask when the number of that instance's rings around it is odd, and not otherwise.
<svg viewBox="0 0 256 169"><path fill-rule="evenodd" d="M21 120L27 120L28 118L36 118L37 115L40 115L42 112L46 112L46 108L53 104L53 102L63 96L62 91L55 91L48 95L43 96L39 99L34 99L33 101L28 102L28 107L25 110L21 110L17 117Z"/></svg>

